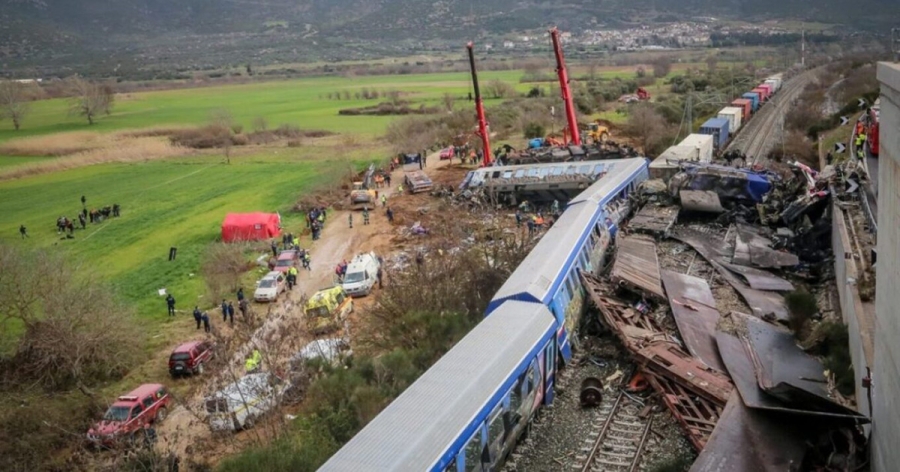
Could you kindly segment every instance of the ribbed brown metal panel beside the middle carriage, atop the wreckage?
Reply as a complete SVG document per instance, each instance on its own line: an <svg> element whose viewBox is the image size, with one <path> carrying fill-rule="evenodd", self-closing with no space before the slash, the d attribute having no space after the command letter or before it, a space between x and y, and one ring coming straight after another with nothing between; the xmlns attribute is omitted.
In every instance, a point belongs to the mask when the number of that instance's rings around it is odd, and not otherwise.
<svg viewBox="0 0 900 472"><path fill-rule="evenodd" d="M616 242L616 262L610 279L651 298L665 300L659 275L656 242L645 236L625 236Z"/></svg>

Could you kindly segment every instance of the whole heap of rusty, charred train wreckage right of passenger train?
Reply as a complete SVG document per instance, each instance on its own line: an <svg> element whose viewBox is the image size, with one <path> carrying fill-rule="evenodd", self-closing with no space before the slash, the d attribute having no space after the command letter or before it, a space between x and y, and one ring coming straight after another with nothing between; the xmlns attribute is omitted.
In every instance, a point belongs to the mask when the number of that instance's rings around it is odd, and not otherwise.
<svg viewBox="0 0 900 472"><path fill-rule="evenodd" d="M869 418L845 404L822 363L797 345L782 296L794 290L785 274L815 281L828 273L823 228L834 176L803 165L756 172L691 163L668 182L669 195L632 203L638 211L617 237L608 276L582 273L601 324L700 453L692 471L866 464L861 426ZM702 223L679 221L691 218ZM733 287L749 314L721 312L707 279L661 269L653 237L696 251L714 269L709 280ZM654 309L666 304L674 331Z"/></svg>

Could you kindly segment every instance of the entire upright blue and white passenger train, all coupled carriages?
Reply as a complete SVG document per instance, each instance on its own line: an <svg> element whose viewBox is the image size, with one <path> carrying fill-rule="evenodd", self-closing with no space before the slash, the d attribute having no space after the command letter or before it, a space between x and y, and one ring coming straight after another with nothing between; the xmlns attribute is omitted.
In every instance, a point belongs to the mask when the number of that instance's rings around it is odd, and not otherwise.
<svg viewBox="0 0 900 472"><path fill-rule="evenodd" d="M335 453L322 471L497 470L553 402L585 307L579 271L598 273L649 177L644 158L606 171L566 210L491 300L484 320Z"/></svg>

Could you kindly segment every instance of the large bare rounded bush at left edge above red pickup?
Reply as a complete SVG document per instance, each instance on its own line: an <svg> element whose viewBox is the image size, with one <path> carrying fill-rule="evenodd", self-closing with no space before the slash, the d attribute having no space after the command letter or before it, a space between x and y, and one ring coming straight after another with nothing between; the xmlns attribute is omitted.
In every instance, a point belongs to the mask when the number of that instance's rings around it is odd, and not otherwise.
<svg viewBox="0 0 900 472"><path fill-rule="evenodd" d="M140 332L107 287L44 252L0 246L0 267L0 323L24 326L5 375L93 396L137 360Z"/></svg>

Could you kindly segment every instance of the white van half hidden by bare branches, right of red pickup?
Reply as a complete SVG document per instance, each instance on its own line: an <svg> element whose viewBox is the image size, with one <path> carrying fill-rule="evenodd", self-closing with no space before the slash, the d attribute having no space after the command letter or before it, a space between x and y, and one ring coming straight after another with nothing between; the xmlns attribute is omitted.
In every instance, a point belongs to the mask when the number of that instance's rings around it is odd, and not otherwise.
<svg viewBox="0 0 900 472"><path fill-rule="evenodd" d="M268 372L247 374L206 398L209 426L214 431L238 431L275 407L288 387Z"/></svg>

